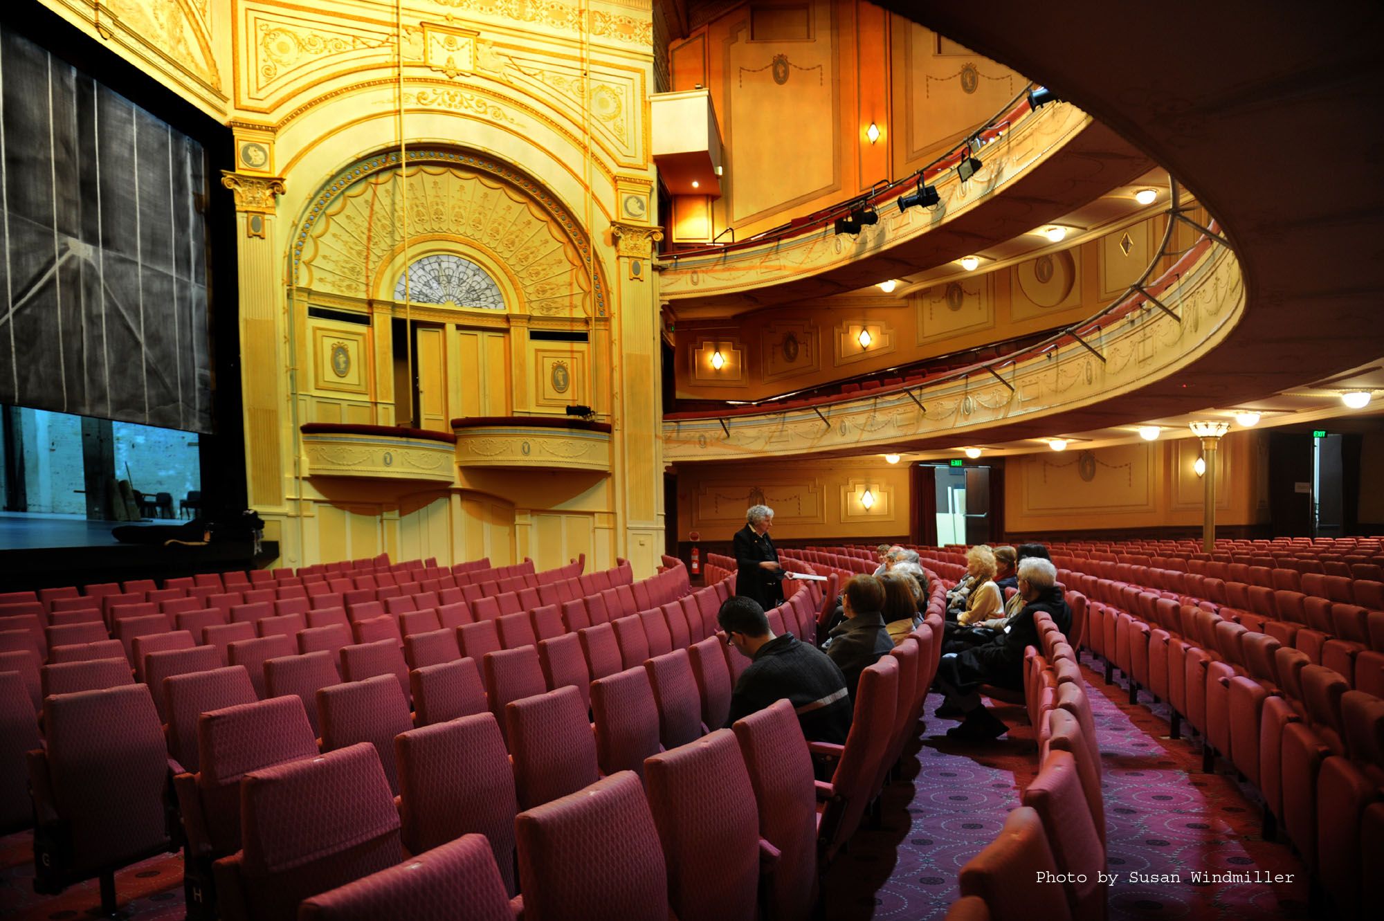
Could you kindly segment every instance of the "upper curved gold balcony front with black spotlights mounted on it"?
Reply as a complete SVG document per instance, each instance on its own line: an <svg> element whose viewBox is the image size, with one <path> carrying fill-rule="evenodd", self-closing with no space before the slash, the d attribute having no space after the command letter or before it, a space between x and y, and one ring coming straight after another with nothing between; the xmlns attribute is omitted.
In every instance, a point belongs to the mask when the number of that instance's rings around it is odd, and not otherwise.
<svg viewBox="0 0 1384 921"><path fill-rule="evenodd" d="M963 145L915 176L779 231L663 256L660 296L686 315L691 308L736 313L868 288L960 259L977 249L977 239L1028 232L1153 167L1081 109L1059 102L1032 111L1027 93L974 137L984 147ZM962 181L955 166L970 152L983 166ZM898 199L919 180L937 189L938 203L900 210ZM835 232L835 218L866 203L877 224L854 236Z"/></svg>

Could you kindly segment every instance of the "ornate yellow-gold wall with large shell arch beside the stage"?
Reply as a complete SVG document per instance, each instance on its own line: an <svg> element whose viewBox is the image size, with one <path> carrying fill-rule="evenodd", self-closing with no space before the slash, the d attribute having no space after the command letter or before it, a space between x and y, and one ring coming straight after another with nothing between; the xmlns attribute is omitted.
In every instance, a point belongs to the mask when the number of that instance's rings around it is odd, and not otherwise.
<svg viewBox="0 0 1384 921"><path fill-rule="evenodd" d="M388 550L545 568L587 553L653 573L649 0L44 3L234 131L220 194L235 196L241 241L248 487L278 566ZM401 145L432 154L408 156L403 180L388 160ZM505 310L396 301L404 264L429 253L482 266ZM610 472L311 476L302 423L406 422L400 317L425 324L407 354L426 427L584 402L614 427Z"/></svg>

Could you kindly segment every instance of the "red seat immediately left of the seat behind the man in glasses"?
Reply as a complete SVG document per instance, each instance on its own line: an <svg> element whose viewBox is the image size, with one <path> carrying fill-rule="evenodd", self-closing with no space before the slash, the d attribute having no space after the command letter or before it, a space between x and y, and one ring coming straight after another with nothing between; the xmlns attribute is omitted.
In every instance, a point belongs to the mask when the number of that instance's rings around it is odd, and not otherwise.
<svg viewBox="0 0 1384 921"><path fill-rule="evenodd" d="M644 769L677 917L753 921L760 882L758 815L735 734L718 729L653 755Z"/></svg>

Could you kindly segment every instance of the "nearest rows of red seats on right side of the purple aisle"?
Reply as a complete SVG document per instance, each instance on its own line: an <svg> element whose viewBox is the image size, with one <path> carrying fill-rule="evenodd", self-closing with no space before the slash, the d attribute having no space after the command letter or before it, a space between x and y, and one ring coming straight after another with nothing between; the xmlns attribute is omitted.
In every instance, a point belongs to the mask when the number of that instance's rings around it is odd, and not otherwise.
<svg viewBox="0 0 1384 921"><path fill-rule="evenodd" d="M1384 897L1384 700L1313 664L1229 608L1193 606L1140 586L1070 573L1092 604L1091 649L1172 708L1203 737L1203 766L1219 755L1264 798L1265 834L1279 823L1341 917ZM1272 624L1272 622L1271 622ZM1298 636L1306 633L1298 631ZM1324 644L1330 649L1336 640ZM1377 653L1362 653L1377 655ZM1356 668L1356 683L1374 680Z"/></svg>

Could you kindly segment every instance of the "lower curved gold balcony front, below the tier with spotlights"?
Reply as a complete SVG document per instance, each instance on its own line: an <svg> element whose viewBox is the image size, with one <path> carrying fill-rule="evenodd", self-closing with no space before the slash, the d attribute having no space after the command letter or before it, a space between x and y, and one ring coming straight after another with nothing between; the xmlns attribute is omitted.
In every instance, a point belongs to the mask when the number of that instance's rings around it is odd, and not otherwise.
<svg viewBox="0 0 1384 921"><path fill-rule="evenodd" d="M1071 423L1086 407L1129 394L1204 357L1236 326L1246 292L1225 239L1208 231L1157 279L1158 254L1124 296L1089 318L1017 354L947 372L918 384L879 387L866 397L830 397L803 407L678 413L666 419L664 459L859 454L918 448L978 429ZM994 436L991 436L994 437Z"/></svg>

